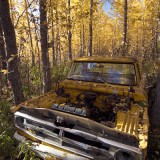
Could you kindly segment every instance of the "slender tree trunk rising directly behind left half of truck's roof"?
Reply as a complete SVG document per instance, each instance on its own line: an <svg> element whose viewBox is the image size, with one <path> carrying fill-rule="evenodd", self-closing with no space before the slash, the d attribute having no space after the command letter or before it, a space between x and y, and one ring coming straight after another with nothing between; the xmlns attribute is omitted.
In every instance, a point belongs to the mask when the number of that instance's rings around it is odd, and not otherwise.
<svg viewBox="0 0 160 160"><path fill-rule="evenodd" d="M92 38L93 38L93 0L90 0L90 19L89 19L89 53L88 56L92 56Z"/></svg>

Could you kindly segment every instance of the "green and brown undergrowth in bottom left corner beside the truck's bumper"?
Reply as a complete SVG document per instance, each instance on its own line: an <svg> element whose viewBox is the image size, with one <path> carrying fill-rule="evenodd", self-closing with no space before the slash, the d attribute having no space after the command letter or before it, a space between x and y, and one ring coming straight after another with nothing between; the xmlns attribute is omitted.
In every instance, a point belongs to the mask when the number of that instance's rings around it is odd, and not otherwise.
<svg viewBox="0 0 160 160"><path fill-rule="evenodd" d="M0 101L0 160L39 160L31 150L31 143L19 144L13 138L15 133L13 113L8 101Z"/></svg>

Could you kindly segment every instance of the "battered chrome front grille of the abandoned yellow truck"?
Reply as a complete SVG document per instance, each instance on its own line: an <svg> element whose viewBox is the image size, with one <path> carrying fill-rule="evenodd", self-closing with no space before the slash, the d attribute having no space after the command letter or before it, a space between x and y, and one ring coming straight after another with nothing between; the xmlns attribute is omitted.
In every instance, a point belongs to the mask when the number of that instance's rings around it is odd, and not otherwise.
<svg viewBox="0 0 160 160"><path fill-rule="evenodd" d="M114 142L114 144L113 141L100 137L100 134L88 131L85 127L79 128L78 125L65 124L63 117L57 116L56 119L52 113L44 114L42 112L43 116L39 113L39 111L36 112L36 109L32 109L31 112L28 110L17 111L15 113L16 127L39 141L90 159L106 157L110 160L114 159L113 155L119 149L117 146L120 143ZM127 145L123 145L123 147L128 149ZM139 152L135 147L130 148Z"/></svg>

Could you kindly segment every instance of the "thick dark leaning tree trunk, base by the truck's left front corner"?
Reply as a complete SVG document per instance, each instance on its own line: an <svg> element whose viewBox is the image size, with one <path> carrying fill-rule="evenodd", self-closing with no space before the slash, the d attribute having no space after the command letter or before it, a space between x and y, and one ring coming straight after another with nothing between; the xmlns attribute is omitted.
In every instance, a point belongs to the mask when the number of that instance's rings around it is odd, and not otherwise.
<svg viewBox="0 0 160 160"><path fill-rule="evenodd" d="M0 12L8 59L8 79L13 89L15 104L19 104L24 101L24 95L18 70L16 36L10 17L8 0L0 0Z"/></svg>

